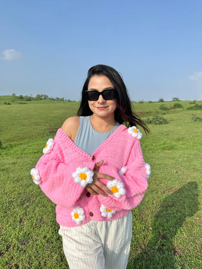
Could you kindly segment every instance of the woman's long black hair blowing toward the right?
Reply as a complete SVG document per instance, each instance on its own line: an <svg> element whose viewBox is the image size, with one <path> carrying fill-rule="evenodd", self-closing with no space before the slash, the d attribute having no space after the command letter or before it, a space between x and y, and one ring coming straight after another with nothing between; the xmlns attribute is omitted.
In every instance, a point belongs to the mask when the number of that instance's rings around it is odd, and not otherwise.
<svg viewBox="0 0 202 269"><path fill-rule="evenodd" d="M134 125L141 126L146 134L150 133L150 129L146 126L146 124L140 119L138 115L135 114L134 111L132 111L132 103L129 98L129 94L123 82L123 79L121 78L117 70L115 70L111 66L104 64L95 65L88 70L87 79L84 82L82 90L80 108L77 112L77 115L90 116L93 114L93 112L89 108L88 100L86 100L85 98L85 91L88 90L88 83L94 75L105 75L111 80L112 84L115 86L115 89L118 91L115 120L119 124L124 123L127 127L132 127Z"/></svg>

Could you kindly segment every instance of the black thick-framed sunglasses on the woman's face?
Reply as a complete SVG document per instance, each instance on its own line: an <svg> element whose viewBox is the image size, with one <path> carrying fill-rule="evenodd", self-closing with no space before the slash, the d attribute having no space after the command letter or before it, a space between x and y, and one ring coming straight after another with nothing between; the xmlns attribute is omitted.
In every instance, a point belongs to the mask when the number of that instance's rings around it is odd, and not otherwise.
<svg viewBox="0 0 202 269"><path fill-rule="evenodd" d="M116 89L103 90L102 92L96 90L85 92L85 98L88 101L97 101L100 95L104 98L104 100L112 100L117 98L118 93Z"/></svg>

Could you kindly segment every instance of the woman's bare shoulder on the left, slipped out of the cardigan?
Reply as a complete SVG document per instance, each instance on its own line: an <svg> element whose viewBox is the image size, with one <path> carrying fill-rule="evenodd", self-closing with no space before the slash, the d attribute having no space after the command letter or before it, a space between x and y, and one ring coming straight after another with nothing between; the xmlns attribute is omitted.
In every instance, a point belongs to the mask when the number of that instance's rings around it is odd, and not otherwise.
<svg viewBox="0 0 202 269"><path fill-rule="evenodd" d="M62 125L61 129L67 136L74 142L80 124L80 117L70 117L68 118L64 124Z"/></svg>

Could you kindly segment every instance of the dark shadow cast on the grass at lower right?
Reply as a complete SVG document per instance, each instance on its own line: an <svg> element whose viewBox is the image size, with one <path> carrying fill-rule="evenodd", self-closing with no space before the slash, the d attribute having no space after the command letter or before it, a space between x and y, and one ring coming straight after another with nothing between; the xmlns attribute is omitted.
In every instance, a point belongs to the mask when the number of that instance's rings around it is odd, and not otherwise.
<svg viewBox="0 0 202 269"><path fill-rule="evenodd" d="M128 269L176 268L175 255L180 252L173 247L172 239L187 217L199 210L198 185L188 182L167 196L152 222L152 239L127 267ZM179 267L183 268L183 267Z"/></svg>

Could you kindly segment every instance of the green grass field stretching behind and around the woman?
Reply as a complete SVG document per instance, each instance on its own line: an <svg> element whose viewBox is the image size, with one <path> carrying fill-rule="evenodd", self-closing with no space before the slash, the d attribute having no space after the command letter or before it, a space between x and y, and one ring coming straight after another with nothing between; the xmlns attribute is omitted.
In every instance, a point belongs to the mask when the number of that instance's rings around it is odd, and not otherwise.
<svg viewBox="0 0 202 269"><path fill-rule="evenodd" d="M202 117L202 110L186 110L190 101L169 111L159 110L161 104L135 103L144 120L159 115L168 124L150 124L151 135L141 139L152 174L142 203L132 211L128 269L202 268L202 121L191 120L193 112ZM2 269L67 268L55 205L33 183L30 170L46 141L77 109L76 102L20 103L17 96L0 96Z"/></svg>

